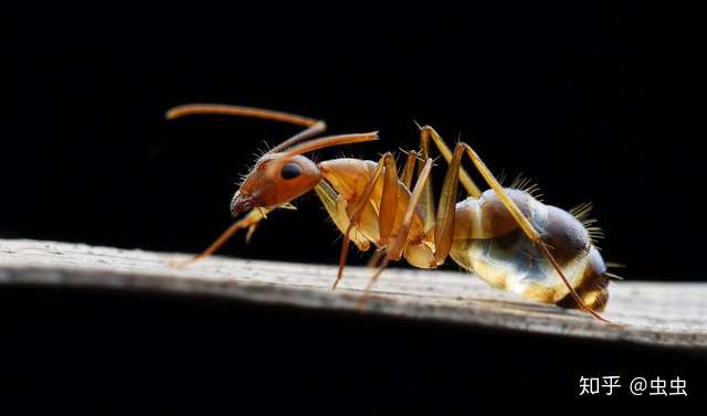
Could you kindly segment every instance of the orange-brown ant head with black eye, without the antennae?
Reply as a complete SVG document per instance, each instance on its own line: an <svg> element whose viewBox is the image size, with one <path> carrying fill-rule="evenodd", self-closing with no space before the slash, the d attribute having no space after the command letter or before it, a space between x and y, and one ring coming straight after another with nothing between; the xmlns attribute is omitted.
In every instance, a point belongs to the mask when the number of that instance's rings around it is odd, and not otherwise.
<svg viewBox="0 0 707 416"><path fill-rule="evenodd" d="M302 154L265 153L233 195L231 213L236 216L254 207L283 205L320 180L317 164Z"/></svg>

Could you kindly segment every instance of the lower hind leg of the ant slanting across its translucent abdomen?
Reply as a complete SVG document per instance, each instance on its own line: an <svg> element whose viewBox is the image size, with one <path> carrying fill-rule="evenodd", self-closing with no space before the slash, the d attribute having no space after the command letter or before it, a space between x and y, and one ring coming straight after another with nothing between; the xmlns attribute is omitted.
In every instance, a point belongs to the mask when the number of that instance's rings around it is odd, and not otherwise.
<svg viewBox="0 0 707 416"><path fill-rule="evenodd" d="M548 260L550 262L555 270L558 273L558 275L562 279L562 282L564 282L564 286L567 286L567 288L569 289L569 292L574 299L574 301L577 302L577 305L581 309L584 309L584 311L587 311L594 318L601 321L611 323L606 319L602 318L602 316L600 316L599 313L593 311L591 308L589 308L587 305L584 305L582 299L579 297L579 295L577 295L577 291L574 291L574 288L572 288L572 285L570 285L569 280L564 276L564 273L562 271L562 268L560 267L560 265L558 265L557 260L555 260L555 257L552 257L552 254L548 249L548 246L542 242L540 233L538 233L537 230L535 230L530 221L526 218L526 216L523 214L518 205L516 205L516 203L506 194L506 191L504 191L504 188L500 185L500 183L498 183L498 180L496 180L494 174L490 172L490 170L488 170L488 168L482 161L478 154L476 154L474 149L472 149L472 147L466 143L458 143L457 148L460 146L466 150L466 154L469 157L469 159L472 160L472 162L474 163L478 172L482 174L482 177L484 177L486 182L488 182L488 185L494 190L494 192L496 192L496 195L498 196L498 199L506 206L506 209L508 209L508 211L510 212L513 217L516 220L520 228L524 231L524 233L528 236L528 238L530 238L530 241L536 246L540 248L540 250L542 250L545 256L548 258Z"/></svg>

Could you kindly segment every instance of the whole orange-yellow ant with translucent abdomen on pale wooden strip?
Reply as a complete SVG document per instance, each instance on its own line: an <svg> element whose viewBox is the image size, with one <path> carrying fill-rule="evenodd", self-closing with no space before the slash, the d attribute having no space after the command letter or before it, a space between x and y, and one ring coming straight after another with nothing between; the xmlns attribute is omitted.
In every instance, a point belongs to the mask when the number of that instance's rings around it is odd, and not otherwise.
<svg viewBox="0 0 707 416"><path fill-rule="evenodd" d="M408 152L399 177L391 152L378 162L339 158L315 163L303 156L378 140L378 132L317 138L326 130L323 120L229 105L178 106L167 118L196 114L254 117L305 129L260 157L231 201L234 217L246 214L182 266L208 257L241 228L247 230L250 239L267 213L291 207L291 201L314 189L344 234L333 289L341 279L350 241L362 252L372 243L377 250L370 264L376 270L361 299L391 260L404 257L415 267L436 268L451 256L495 288L544 303L580 308L609 322L598 312L606 305L609 280L614 275L608 273L592 243L598 228L589 227L592 221L584 220L590 205L567 212L538 201L532 189L518 189L524 184L503 188L471 146L458 142L451 150L430 126L420 127L421 149ZM430 184L430 139L449 163L436 207ZM464 154L489 190L482 192L461 167ZM411 188L415 166L418 178ZM468 196L457 202L460 182Z"/></svg>

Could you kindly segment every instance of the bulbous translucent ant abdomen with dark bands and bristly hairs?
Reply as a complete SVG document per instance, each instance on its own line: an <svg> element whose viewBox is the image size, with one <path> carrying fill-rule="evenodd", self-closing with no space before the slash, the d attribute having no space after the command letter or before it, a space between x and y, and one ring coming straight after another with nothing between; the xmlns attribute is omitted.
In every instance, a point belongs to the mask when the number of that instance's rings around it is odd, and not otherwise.
<svg viewBox="0 0 707 416"><path fill-rule="evenodd" d="M574 290L594 310L606 299L606 267L582 223L568 212L545 205L526 192L507 190L542 235ZM542 252L516 225L493 191L456 205L451 256L489 285L526 298L576 307L569 289Z"/></svg>

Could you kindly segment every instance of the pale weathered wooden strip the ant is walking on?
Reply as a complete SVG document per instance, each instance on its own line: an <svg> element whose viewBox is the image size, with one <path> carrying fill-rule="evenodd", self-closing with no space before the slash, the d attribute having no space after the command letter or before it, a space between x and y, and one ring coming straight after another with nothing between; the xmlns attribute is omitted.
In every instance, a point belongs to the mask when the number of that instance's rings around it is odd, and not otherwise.
<svg viewBox="0 0 707 416"><path fill-rule="evenodd" d="M0 239L0 287L53 285L225 297L359 313L369 271L348 267L330 290L334 266L212 257L183 269L184 255L86 245ZM604 317L539 305L488 287L464 273L389 269L361 319L379 314L513 331L665 345L707 352L707 284L620 281Z"/></svg>

